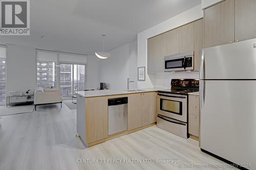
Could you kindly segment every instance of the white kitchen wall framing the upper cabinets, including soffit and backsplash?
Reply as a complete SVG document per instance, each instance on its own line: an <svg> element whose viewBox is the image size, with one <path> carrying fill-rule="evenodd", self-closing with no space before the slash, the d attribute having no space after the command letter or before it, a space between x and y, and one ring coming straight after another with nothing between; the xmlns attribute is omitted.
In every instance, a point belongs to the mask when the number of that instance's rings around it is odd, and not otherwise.
<svg viewBox="0 0 256 170"><path fill-rule="evenodd" d="M200 19L203 17L201 4L191 8L179 15L176 15L168 20L159 23L158 25L147 29L138 34L138 67L147 67L147 39L166 31L172 30L179 26L185 25L188 22ZM199 72L185 73L159 73L148 75L146 71L145 81L138 82L138 88L148 87L166 87L169 88L170 79L172 78L199 78Z"/></svg>

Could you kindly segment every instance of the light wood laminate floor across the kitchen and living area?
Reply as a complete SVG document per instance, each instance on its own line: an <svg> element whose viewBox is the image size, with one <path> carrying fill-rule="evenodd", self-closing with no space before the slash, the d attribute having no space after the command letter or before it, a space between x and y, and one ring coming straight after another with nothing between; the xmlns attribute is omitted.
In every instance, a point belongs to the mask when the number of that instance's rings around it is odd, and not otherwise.
<svg viewBox="0 0 256 170"><path fill-rule="evenodd" d="M76 134L76 110L63 105L38 106L33 113L4 116L0 127L0 169L223 169L193 139L183 139L156 126L85 148ZM81 160L80 160L81 159ZM85 163L108 159L175 159L180 163ZM78 163L77 160L83 161ZM96 160L95 160L96 161ZM186 164L192 167L184 167ZM226 168L231 169L231 168Z"/></svg>

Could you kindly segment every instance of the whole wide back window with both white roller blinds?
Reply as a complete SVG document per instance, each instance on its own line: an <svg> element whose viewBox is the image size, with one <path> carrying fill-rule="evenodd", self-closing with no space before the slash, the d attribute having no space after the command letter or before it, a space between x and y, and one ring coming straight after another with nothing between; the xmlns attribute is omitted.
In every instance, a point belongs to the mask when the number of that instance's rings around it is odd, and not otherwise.
<svg viewBox="0 0 256 170"><path fill-rule="evenodd" d="M85 89L86 56L38 50L36 61L37 86L59 88L64 97Z"/></svg>

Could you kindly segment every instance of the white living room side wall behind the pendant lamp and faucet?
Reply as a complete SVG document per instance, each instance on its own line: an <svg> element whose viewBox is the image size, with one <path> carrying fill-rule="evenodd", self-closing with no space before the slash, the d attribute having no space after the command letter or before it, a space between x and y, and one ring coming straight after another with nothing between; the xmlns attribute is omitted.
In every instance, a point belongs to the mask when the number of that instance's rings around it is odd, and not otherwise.
<svg viewBox="0 0 256 170"><path fill-rule="evenodd" d="M130 89L137 88L137 41L110 51L111 57L99 61L99 82L114 90L126 89L127 78L132 78Z"/></svg>

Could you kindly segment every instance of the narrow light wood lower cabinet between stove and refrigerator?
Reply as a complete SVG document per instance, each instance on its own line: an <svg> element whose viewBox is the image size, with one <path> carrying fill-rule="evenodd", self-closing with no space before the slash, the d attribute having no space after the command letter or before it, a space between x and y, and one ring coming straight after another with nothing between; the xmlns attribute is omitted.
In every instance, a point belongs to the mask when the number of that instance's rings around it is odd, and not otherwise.
<svg viewBox="0 0 256 170"><path fill-rule="evenodd" d="M188 95L188 133L199 137L199 95Z"/></svg>

